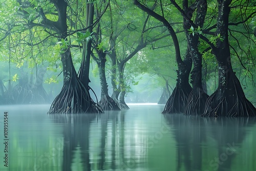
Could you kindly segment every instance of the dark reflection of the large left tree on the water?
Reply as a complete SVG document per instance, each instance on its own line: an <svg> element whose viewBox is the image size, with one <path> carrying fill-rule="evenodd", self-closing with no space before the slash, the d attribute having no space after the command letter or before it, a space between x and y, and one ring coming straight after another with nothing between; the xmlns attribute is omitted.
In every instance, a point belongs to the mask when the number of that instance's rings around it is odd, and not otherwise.
<svg viewBox="0 0 256 171"><path fill-rule="evenodd" d="M96 115L49 115L56 124L63 125L62 170L91 170L89 131Z"/></svg>

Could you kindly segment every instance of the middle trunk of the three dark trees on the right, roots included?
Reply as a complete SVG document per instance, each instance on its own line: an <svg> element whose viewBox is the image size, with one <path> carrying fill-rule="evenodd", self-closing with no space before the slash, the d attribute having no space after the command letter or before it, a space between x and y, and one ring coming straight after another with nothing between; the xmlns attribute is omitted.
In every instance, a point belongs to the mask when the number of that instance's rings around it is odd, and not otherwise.
<svg viewBox="0 0 256 171"><path fill-rule="evenodd" d="M184 11L188 13L190 8L187 8L187 4L183 4ZM191 18L194 11L190 10L188 16ZM206 1L202 0L197 5L197 15L195 24L203 27L204 18L207 11ZM193 60L193 70L191 71L191 83L192 91L188 97L188 103L184 111L184 115L201 115L204 112L204 105L206 99L209 97L203 90L202 87L202 55L198 51L199 36L198 34L188 33L187 30L191 27L188 21L184 18L183 27L187 37L187 44L191 58Z"/></svg>

